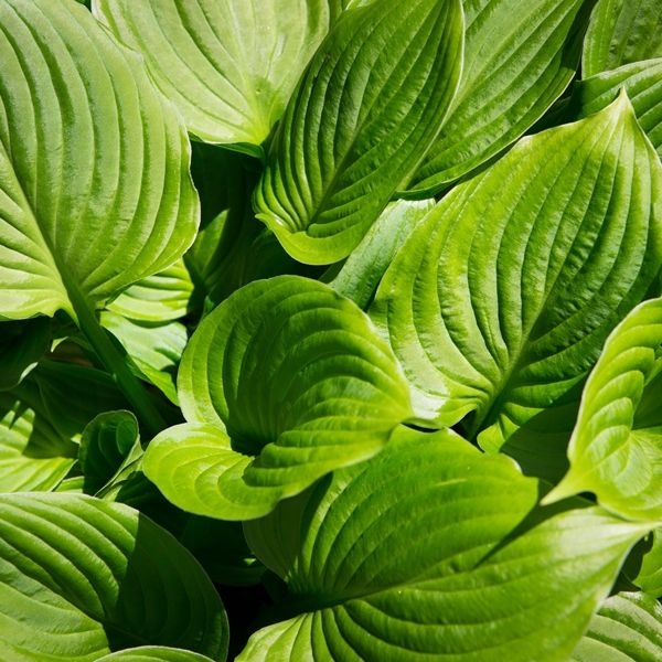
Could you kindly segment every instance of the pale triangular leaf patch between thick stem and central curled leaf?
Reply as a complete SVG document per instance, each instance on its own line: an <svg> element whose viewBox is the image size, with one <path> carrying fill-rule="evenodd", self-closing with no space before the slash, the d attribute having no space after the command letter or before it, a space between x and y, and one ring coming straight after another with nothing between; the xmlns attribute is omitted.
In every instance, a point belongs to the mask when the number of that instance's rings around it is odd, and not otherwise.
<svg viewBox="0 0 662 662"><path fill-rule="evenodd" d="M125 348L137 369L137 376L178 404L174 382L189 340L186 328L180 322L138 322L110 311L102 313L102 324Z"/></svg>

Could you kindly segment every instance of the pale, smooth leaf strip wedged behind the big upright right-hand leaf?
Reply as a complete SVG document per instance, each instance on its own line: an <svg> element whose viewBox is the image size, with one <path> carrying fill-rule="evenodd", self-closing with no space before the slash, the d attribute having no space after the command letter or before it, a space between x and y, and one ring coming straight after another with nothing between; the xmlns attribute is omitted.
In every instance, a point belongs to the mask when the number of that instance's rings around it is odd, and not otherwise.
<svg viewBox="0 0 662 662"><path fill-rule="evenodd" d="M365 310L396 253L434 206L434 200L392 202L342 264L331 287Z"/></svg>

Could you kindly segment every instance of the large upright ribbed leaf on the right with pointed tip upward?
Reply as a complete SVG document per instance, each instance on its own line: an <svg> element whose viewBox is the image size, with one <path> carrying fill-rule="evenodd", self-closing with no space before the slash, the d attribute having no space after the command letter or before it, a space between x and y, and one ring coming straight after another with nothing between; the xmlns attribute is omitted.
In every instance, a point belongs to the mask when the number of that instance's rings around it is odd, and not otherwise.
<svg viewBox="0 0 662 662"><path fill-rule="evenodd" d="M573 413L607 335L662 266L661 193L660 160L624 95L453 189L371 309L418 419L445 426L471 413L483 448L525 463L504 447L517 433L520 446L547 452L536 416Z"/></svg>

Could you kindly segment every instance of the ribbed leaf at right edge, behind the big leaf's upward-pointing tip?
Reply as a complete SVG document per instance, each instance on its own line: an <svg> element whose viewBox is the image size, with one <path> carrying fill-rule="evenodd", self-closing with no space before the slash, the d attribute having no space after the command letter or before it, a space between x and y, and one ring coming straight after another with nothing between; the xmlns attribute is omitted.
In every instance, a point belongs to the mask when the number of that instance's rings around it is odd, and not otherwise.
<svg viewBox="0 0 662 662"><path fill-rule="evenodd" d="M575 85L568 113L587 117L608 106L626 89L637 119L662 157L662 57L626 64Z"/></svg>

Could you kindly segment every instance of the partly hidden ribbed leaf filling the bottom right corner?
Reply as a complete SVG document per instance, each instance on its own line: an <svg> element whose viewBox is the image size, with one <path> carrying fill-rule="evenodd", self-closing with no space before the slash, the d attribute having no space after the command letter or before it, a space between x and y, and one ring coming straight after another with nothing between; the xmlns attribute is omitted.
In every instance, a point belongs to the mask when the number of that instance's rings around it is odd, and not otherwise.
<svg viewBox="0 0 662 662"><path fill-rule="evenodd" d="M662 606L650 596L620 592L605 600L572 662L658 662Z"/></svg>

